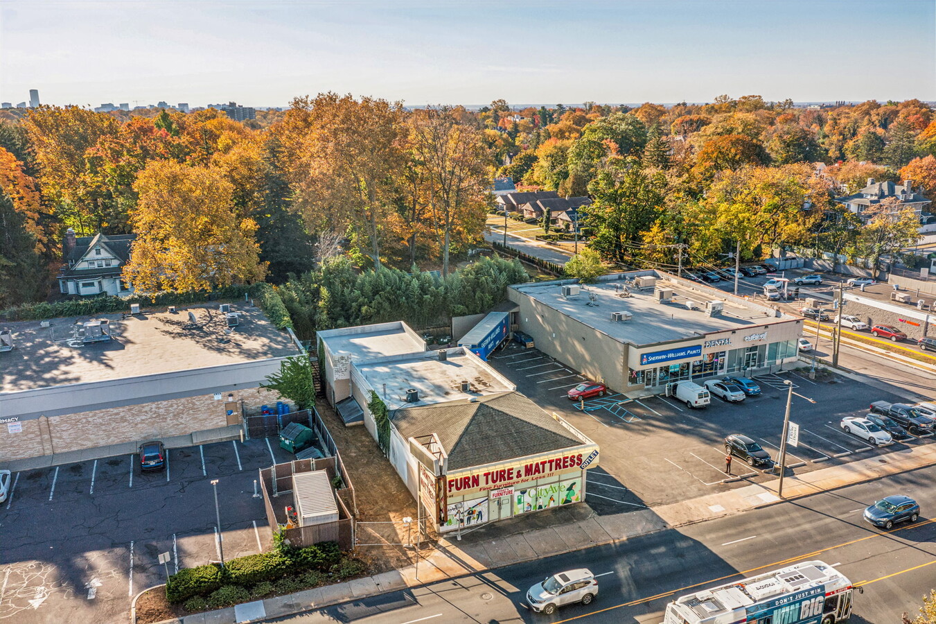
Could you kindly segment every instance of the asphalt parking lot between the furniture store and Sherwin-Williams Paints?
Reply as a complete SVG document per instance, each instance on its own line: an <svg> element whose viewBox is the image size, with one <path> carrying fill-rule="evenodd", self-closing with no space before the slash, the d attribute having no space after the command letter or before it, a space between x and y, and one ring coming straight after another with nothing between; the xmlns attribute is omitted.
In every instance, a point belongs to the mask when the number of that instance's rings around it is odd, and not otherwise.
<svg viewBox="0 0 936 624"><path fill-rule="evenodd" d="M601 445L601 467L588 476L589 505L598 513L679 502L777 478L773 468L749 467L738 457L732 462L733 474L726 475L724 437L740 433L753 438L776 460L786 404L784 379L794 382L795 393L815 401L793 396L791 422L799 425L799 443L787 448L787 475L931 443L930 438L911 438L874 447L846 434L840 427L843 417L864 415L872 401L900 399L838 376L813 380L789 372L758 377L762 394L739 404L712 396L707 409L688 409L661 395L630 399L607 394L586 400L582 410L565 393L584 378L542 351L510 343L490 364L543 409L556 411Z"/></svg>

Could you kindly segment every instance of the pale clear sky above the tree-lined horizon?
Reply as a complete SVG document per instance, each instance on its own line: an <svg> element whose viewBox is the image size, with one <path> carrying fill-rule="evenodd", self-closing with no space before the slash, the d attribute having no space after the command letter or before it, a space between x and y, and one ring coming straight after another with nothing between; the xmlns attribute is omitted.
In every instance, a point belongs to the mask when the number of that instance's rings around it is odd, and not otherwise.
<svg viewBox="0 0 936 624"><path fill-rule="evenodd" d="M936 100L933 0L0 0L0 99Z"/></svg>

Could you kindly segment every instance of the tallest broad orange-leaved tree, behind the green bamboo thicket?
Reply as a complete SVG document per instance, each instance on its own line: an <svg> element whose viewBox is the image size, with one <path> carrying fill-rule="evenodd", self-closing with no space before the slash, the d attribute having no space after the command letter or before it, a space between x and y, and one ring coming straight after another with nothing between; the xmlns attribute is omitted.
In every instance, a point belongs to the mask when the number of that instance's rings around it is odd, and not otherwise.
<svg viewBox="0 0 936 624"><path fill-rule="evenodd" d="M350 224L380 266L384 222L393 212L402 168L402 105L350 95L319 94L302 143L304 177L297 188L307 227Z"/></svg>

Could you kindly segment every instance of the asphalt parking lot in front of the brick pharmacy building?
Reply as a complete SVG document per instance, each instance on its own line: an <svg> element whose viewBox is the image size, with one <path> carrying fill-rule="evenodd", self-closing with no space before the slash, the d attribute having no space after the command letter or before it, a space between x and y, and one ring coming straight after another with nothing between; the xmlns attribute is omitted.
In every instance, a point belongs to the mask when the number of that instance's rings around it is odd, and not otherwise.
<svg viewBox="0 0 936 624"><path fill-rule="evenodd" d="M0 620L123 622L167 569L219 560L222 546L225 559L264 550L256 471L290 459L271 438L169 449L167 468L146 473L131 454L15 472L0 504Z"/></svg>

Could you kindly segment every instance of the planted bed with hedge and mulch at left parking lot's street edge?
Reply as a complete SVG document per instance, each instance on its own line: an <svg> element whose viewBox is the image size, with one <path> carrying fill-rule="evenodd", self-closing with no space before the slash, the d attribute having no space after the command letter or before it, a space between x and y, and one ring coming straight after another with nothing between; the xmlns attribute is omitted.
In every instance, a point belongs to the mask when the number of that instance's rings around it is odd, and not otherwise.
<svg viewBox="0 0 936 624"><path fill-rule="evenodd" d="M167 585L139 597L137 622L151 624L339 583L368 569L364 561L343 553L335 542L293 548L277 539L269 553L232 559L224 567L212 563L172 574Z"/></svg>

